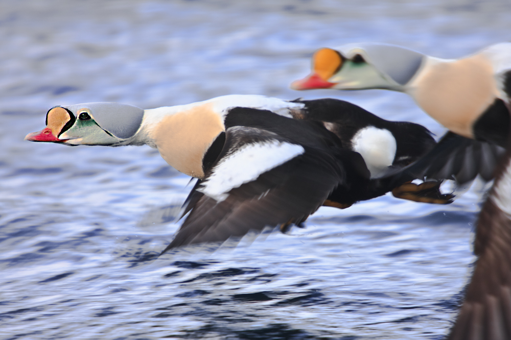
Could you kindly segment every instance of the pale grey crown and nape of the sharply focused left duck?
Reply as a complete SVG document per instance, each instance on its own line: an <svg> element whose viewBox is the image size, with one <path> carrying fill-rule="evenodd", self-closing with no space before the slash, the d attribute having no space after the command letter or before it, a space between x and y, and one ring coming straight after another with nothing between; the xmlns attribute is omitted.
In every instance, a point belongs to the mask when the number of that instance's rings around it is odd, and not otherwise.
<svg viewBox="0 0 511 340"><path fill-rule="evenodd" d="M67 107L77 119L79 115L77 111L83 108L90 110L90 116L103 130L122 139L132 137L140 128L144 117L143 109L128 104L98 102Z"/></svg>

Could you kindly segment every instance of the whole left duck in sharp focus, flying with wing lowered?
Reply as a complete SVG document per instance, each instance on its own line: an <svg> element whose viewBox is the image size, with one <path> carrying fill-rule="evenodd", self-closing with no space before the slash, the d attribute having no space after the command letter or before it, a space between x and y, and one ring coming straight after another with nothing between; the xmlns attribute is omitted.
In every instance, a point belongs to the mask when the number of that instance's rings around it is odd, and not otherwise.
<svg viewBox="0 0 511 340"><path fill-rule="evenodd" d="M56 106L31 141L157 148L178 171L198 178L185 218L164 250L221 242L266 226L300 225L319 206L346 208L394 189L394 196L449 203L440 182L389 184L387 169L434 147L417 124L388 122L348 102L284 101L227 95L143 110L118 103Z"/></svg>

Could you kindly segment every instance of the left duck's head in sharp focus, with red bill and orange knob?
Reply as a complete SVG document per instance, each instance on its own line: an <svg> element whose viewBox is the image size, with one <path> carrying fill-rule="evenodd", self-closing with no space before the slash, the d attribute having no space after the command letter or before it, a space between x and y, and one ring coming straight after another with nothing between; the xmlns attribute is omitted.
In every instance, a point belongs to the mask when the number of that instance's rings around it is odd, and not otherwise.
<svg viewBox="0 0 511 340"><path fill-rule="evenodd" d="M46 127L25 139L67 145L114 145L133 137L142 125L144 110L119 103L56 106L46 115Z"/></svg>

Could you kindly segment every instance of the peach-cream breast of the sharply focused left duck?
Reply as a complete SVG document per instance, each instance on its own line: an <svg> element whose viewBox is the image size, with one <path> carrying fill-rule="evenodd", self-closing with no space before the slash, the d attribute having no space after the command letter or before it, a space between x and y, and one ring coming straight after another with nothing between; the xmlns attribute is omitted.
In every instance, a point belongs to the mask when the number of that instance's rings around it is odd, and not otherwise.
<svg viewBox="0 0 511 340"><path fill-rule="evenodd" d="M213 103L204 103L165 116L152 138L163 159L178 171L204 178L202 158L219 133L225 130Z"/></svg>

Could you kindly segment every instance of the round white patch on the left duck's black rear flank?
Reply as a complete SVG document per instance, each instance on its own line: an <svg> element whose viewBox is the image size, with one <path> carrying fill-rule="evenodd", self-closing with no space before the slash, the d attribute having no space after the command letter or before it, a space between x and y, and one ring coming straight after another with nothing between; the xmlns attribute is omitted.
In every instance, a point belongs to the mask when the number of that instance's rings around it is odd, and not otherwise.
<svg viewBox="0 0 511 340"><path fill-rule="evenodd" d="M364 158L371 178L382 174L396 156L396 138L386 129L363 128L353 137L352 144L353 150Z"/></svg>

